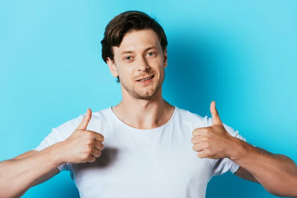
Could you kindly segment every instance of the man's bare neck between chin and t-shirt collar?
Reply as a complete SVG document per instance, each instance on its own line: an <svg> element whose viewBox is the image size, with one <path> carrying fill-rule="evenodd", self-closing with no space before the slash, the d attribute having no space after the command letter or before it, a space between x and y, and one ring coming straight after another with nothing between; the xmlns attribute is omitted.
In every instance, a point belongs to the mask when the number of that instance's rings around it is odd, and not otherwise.
<svg viewBox="0 0 297 198"><path fill-rule="evenodd" d="M123 94L119 104L112 107L114 114L127 125L137 129L153 129L169 121L174 106L162 98L162 87L151 99L135 99Z"/></svg>

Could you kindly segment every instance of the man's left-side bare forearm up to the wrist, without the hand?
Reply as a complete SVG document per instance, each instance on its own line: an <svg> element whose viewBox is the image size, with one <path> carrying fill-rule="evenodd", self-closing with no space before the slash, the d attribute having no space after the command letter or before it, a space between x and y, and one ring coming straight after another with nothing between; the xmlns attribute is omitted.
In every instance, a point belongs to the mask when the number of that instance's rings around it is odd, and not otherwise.
<svg viewBox="0 0 297 198"><path fill-rule="evenodd" d="M0 198L21 197L40 178L63 163L59 144L22 159L0 162Z"/></svg>

